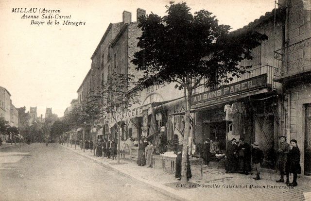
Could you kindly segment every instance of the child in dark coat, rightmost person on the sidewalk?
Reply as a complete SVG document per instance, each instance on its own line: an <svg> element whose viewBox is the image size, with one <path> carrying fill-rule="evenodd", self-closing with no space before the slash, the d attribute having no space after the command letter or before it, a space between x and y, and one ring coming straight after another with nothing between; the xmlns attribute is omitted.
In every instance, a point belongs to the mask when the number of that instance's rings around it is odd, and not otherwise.
<svg viewBox="0 0 311 201"><path fill-rule="evenodd" d="M293 182L288 184L289 186L297 186L297 174L301 174L300 167L300 150L295 139L291 140L292 149L287 155L286 162L286 178L289 177L289 173L293 173L294 179Z"/></svg>

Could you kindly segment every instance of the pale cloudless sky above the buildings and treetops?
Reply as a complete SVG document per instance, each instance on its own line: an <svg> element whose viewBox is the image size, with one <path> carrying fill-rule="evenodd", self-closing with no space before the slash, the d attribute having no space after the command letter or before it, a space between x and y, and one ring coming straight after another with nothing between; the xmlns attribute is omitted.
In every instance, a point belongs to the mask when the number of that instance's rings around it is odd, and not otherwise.
<svg viewBox="0 0 311 201"><path fill-rule="evenodd" d="M179 1L175 1L179 2ZM191 12L212 12L221 24L232 30L242 28L274 8L274 0L184 0ZM94 50L109 23L122 21L124 10L136 21L137 8L165 15L169 0L0 0L0 86L11 93L16 107L37 106L38 116L46 107L59 117L64 115L91 66ZM37 8L39 19L21 18L25 13L12 12ZM70 16L71 22L85 25L48 25L39 9L60 10L53 15ZM33 10L34 11L34 10ZM49 13L45 13L49 16ZM31 20L45 21L43 25Z"/></svg>

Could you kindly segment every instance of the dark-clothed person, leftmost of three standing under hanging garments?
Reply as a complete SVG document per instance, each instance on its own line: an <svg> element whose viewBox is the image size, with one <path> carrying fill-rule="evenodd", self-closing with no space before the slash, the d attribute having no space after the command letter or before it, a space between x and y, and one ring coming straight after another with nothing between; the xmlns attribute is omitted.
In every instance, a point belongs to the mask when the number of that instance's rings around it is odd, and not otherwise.
<svg viewBox="0 0 311 201"><path fill-rule="evenodd" d="M231 145L228 146L228 149L226 151L226 166L225 166L225 172L228 173L234 173L237 171L238 167L238 145L236 145L237 140L233 138L231 140Z"/></svg>

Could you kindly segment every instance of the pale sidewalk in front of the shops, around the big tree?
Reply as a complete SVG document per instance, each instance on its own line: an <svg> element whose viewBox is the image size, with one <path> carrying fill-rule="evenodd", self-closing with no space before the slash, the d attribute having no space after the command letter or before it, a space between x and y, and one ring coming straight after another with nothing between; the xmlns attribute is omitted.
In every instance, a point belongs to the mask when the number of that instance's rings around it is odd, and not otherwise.
<svg viewBox="0 0 311 201"><path fill-rule="evenodd" d="M117 164L111 159L96 157L89 150L83 152L78 146L77 150L74 146L67 147L67 144L60 146L181 201L311 201L311 180L306 178L298 178L298 186L288 187L275 182L279 179L279 175L276 174L264 172L261 174L261 180L254 181L255 174L226 174L224 168L217 169L217 166L204 167L203 177L201 177L200 167L193 165L191 166L192 179L187 186L183 186L170 169L164 172L161 164L156 165L155 168L138 167L136 162L131 163L124 159ZM290 176L290 180L293 180L293 176Z"/></svg>

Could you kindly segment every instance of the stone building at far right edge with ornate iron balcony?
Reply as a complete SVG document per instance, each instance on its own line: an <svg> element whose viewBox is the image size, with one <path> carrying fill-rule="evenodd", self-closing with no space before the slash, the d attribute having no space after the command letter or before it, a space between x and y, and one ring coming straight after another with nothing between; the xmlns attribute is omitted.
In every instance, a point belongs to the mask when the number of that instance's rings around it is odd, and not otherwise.
<svg viewBox="0 0 311 201"><path fill-rule="evenodd" d="M274 51L274 81L282 84L280 134L297 140L302 174L311 176L311 1L280 3L285 7L284 34Z"/></svg>

